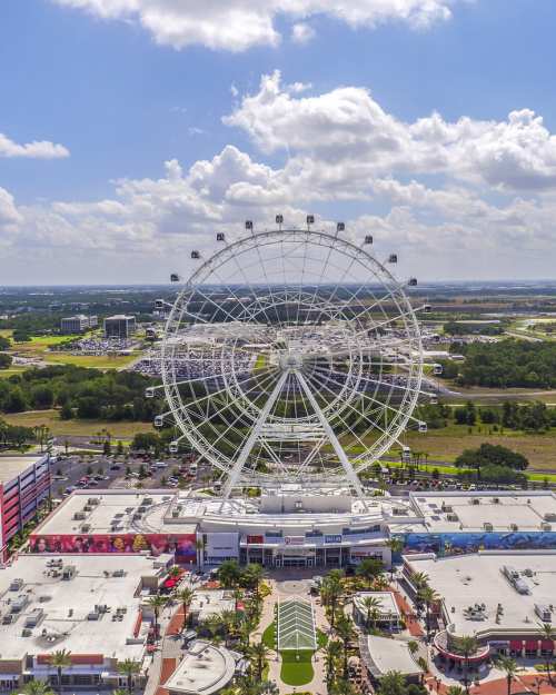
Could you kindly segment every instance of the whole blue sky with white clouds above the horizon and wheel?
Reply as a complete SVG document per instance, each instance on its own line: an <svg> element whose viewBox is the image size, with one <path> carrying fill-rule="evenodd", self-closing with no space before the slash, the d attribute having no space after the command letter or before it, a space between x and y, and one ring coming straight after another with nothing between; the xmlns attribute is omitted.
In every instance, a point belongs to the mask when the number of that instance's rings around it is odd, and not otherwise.
<svg viewBox="0 0 556 695"><path fill-rule="evenodd" d="M288 4L4 0L0 284L156 281L280 209L428 279L549 277L556 3Z"/></svg>

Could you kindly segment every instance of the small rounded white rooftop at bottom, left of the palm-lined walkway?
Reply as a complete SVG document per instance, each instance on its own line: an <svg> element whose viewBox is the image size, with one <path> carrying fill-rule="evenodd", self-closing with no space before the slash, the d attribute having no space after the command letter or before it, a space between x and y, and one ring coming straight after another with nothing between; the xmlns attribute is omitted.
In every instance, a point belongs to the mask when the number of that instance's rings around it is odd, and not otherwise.
<svg viewBox="0 0 556 695"><path fill-rule="evenodd" d="M236 661L228 649L196 639L189 645L165 688L171 693L210 695L224 688L234 677L235 671Z"/></svg>

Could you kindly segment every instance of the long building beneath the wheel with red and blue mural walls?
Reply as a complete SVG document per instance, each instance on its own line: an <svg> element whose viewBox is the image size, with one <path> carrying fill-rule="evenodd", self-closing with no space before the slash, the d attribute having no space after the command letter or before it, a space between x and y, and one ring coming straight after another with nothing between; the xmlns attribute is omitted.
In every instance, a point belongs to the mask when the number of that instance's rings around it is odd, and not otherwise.
<svg viewBox="0 0 556 695"><path fill-rule="evenodd" d="M188 492L80 490L31 535L36 553L171 553L181 565L225 559L267 567L338 567L367 557L484 549L556 549L550 492L413 493L356 499L287 486L227 500Z"/></svg>

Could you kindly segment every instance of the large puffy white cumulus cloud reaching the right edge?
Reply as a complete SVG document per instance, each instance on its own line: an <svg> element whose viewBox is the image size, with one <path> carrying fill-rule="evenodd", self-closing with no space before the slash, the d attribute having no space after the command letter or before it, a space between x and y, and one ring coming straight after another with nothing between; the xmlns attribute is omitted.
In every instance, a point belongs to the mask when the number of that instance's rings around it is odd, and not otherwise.
<svg viewBox="0 0 556 695"><path fill-rule="evenodd" d="M556 136L529 109L504 121L463 117L449 122L431 113L407 123L365 88L299 96L282 86L277 70L264 76L259 91L246 96L224 122L245 130L266 153L294 152L290 168L305 176L317 165L335 185L345 179L360 187L390 173L445 173L505 190L556 185Z"/></svg>

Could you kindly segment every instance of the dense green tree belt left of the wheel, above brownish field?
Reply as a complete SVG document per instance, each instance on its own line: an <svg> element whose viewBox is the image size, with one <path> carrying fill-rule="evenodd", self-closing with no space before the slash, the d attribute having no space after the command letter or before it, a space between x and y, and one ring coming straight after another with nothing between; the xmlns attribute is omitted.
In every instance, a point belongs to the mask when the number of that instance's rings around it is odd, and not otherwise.
<svg viewBox="0 0 556 695"><path fill-rule="evenodd" d="M157 398L145 398L151 383L132 371L101 373L73 365L28 369L0 380L0 413L57 407L63 419L148 421L161 407Z"/></svg>

